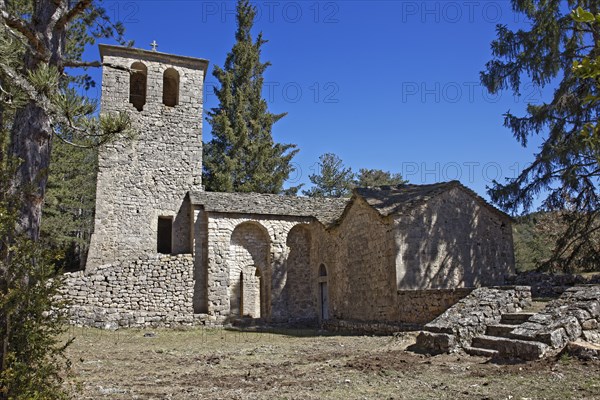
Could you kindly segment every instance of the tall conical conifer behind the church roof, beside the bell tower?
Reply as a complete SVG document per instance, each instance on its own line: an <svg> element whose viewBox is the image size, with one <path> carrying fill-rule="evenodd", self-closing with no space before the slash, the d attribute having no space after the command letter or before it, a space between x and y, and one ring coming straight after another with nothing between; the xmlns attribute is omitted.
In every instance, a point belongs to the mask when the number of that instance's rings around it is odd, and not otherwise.
<svg viewBox="0 0 600 400"><path fill-rule="evenodd" d="M263 74L271 65L261 62L267 42L254 41L251 29L256 9L248 0L237 3L236 43L223 68L215 66L219 105L208 113L212 140L204 146L204 185L209 191L280 193L292 171L295 145L274 143L273 124L286 114L272 114L262 98Z"/></svg>

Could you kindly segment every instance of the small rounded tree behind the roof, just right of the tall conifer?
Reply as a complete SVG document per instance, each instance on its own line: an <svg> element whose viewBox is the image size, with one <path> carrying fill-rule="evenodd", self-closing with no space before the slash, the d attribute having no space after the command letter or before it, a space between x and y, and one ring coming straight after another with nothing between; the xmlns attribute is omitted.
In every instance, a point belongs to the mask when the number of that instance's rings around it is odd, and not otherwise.
<svg viewBox="0 0 600 400"><path fill-rule="evenodd" d="M342 160L333 153L319 157L319 171L309 175L313 184L303 193L309 197L348 197L354 187L354 172L346 168Z"/></svg>

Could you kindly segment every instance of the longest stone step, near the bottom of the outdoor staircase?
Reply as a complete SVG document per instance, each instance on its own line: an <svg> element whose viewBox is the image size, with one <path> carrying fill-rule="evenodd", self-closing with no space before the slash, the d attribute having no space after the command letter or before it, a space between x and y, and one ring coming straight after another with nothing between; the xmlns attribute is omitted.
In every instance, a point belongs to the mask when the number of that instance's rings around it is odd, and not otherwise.
<svg viewBox="0 0 600 400"><path fill-rule="evenodd" d="M527 361L542 358L548 349L548 346L540 342L486 335L473 338L471 346L496 350L500 358L520 358Z"/></svg>

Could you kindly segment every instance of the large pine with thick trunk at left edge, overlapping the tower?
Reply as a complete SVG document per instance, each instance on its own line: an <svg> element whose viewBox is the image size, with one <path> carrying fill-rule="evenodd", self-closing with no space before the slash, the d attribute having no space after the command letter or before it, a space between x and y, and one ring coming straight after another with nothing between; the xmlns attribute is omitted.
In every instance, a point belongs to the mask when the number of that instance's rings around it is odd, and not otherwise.
<svg viewBox="0 0 600 400"><path fill-rule="evenodd" d="M126 115L98 117L76 94L89 76L65 70L101 66L81 60L84 47L122 31L92 0L0 0L0 399L66 397L60 279L39 241L41 211L56 140L130 134Z"/></svg>

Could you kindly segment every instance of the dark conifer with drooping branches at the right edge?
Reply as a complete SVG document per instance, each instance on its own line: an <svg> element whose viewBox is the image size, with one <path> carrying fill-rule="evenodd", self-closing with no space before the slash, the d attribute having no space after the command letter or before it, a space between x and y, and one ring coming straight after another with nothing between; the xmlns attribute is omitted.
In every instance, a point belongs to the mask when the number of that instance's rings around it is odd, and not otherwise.
<svg viewBox="0 0 600 400"><path fill-rule="evenodd" d="M567 271L600 265L600 165L597 152L582 135L599 117L598 102L588 100L598 96L598 86L572 68L579 60L596 59L599 34L571 17L570 10L577 6L595 15L600 1L512 0L515 12L529 24L514 31L497 27L493 59L481 73L491 93L511 89L519 95L525 76L535 88L556 83L548 102L529 104L522 116L510 111L504 115L504 125L523 146L535 135L542 135L544 142L519 176L494 182L490 196L509 212L529 211L538 195L545 197L543 210L563 211L568 228L549 262Z"/></svg>

